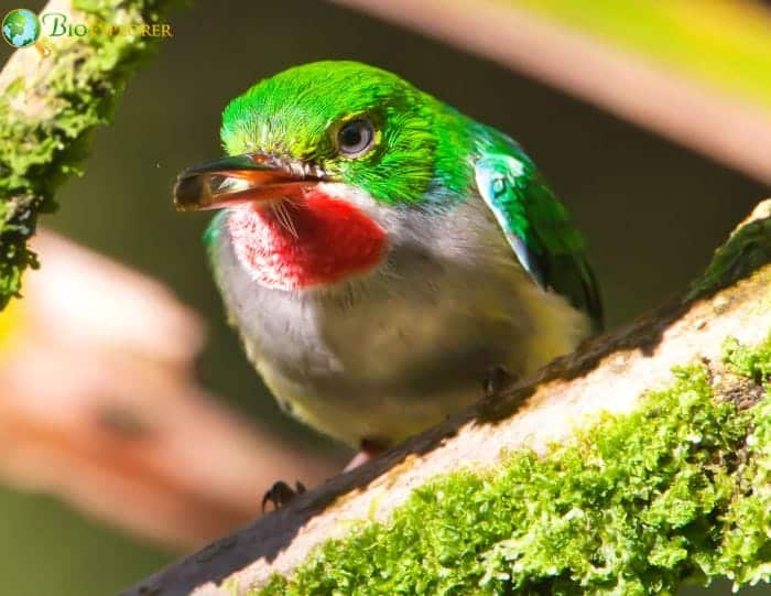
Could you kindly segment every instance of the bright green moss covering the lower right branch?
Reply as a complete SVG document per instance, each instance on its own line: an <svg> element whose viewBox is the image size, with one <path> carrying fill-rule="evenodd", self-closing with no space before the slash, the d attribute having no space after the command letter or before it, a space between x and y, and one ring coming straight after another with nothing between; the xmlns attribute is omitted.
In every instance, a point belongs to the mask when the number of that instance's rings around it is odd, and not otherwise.
<svg viewBox="0 0 771 596"><path fill-rule="evenodd" d="M771 339L726 345L725 377L767 382ZM739 381L737 377L735 379ZM754 384L752 387L756 387ZM639 411L539 456L438 476L254 595L672 594L771 577L771 398L741 408L713 371L674 370Z"/></svg>

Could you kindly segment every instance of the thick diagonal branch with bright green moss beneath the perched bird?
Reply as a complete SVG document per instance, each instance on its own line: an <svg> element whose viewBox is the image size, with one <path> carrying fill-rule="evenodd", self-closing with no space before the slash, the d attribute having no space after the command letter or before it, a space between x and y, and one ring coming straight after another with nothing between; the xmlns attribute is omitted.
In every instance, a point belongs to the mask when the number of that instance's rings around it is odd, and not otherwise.
<svg viewBox="0 0 771 596"><path fill-rule="evenodd" d="M681 300L127 595L661 594L771 577L771 201Z"/></svg>

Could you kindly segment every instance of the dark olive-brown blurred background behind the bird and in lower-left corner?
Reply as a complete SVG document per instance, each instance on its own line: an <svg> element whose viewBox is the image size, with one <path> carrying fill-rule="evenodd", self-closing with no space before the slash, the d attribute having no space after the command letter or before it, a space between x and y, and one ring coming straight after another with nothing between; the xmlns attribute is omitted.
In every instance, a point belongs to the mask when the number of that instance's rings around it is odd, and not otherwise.
<svg viewBox="0 0 771 596"><path fill-rule="evenodd" d="M0 13L14 7L2 0ZM318 449L340 453L279 413L224 322L200 242L208 216L177 214L170 201L177 172L220 155L221 109L258 79L322 58L358 59L510 133L588 237L611 327L682 291L770 194L503 67L326 2L198 2L170 21L173 39L131 82L115 123L94 139L86 176L66 184L59 210L42 224L170 285L207 321L204 382ZM3 594L111 594L174 556L50 497L0 489L0 520Z"/></svg>

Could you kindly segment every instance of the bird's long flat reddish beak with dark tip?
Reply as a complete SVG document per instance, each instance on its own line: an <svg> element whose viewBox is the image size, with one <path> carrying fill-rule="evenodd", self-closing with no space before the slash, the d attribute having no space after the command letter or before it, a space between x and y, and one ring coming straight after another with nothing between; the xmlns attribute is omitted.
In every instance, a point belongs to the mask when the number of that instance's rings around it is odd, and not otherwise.
<svg viewBox="0 0 771 596"><path fill-rule="evenodd" d="M188 167L176 177L172 196L181 212L218 209L292 196L322 180L316 167L247 153Z"/></svg>

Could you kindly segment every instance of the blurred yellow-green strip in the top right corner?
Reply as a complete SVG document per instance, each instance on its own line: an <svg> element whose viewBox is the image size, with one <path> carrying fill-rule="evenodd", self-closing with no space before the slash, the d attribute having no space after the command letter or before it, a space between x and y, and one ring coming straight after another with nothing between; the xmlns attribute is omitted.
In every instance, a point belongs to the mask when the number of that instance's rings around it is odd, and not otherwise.
<svg viewBox="0 0 771 596"><path fill-rule="evenodd" d="M498 0L771 109L771 11L756 0Z"/></svg>

